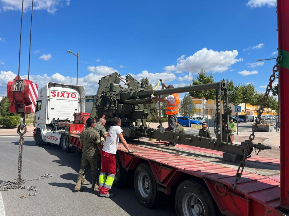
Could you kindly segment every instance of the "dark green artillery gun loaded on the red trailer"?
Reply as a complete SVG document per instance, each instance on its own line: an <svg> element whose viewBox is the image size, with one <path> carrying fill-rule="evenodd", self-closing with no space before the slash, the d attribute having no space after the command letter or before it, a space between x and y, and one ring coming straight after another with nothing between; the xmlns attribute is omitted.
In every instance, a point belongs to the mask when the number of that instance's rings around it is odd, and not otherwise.
<svg viewBox="0 0 289 216"><path fill-rule="evenodd" d="M120 85L120 81L123 81L124 84ZM219 150L238 155L243 155L244 151L247 151L246 141L242 142L241 145L229 143L230 136L228 134L224 134L222 140L222 114L224 114L225 121L227 125L229 125L229 116L232 113L232 109L228 106L227 85L224 80L209 84L190 85L172 89L147 90L144 88L143 83L137 81L130 74L127 74L125 78L121 78L120 74L112 73L102 77L98 84L97 99L91 110L90 117L97 120L101 117L105 117L105 127L107 130L112 125L113 118L119 117L121 118L123 135L126 138L154 138L157 140ZM152 103L152 99L150 98L152 94L159 96L210 89L216 89L216 139L156 130L148 127L146 120L150 117L148 104ZM221 101L223 101L223 107L221 106ZM253 147L259 150L271 148L252 143L250 151L253 150Z"/></svg>

